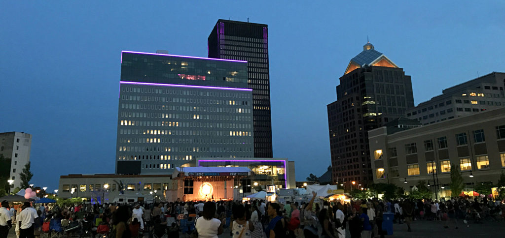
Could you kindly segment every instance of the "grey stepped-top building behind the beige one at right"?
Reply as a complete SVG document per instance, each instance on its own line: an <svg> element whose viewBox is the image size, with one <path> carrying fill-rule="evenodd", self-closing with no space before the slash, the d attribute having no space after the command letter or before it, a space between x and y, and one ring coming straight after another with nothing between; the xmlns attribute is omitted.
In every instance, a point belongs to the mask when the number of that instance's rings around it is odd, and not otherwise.
<svg viewBox="0 0 505 238"><path fill-rule="evenodd" d="M450 87L442 95L407 110L423 125L505 107L505 73L492 72Z"/></svg>

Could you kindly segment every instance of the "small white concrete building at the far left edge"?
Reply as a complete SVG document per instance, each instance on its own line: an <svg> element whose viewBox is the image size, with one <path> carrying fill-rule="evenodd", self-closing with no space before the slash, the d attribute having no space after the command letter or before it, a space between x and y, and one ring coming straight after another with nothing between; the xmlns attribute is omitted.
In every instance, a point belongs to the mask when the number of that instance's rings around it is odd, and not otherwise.
<svg viewBox="0 0 505 238"><path fill-rule="evenodd" d="M11 184L13 188L21 188L21 179L19 174L23 171L28 162L30 162L32 135L24 132L5 132L0 133L0 154L4 158L11 159L9 180L14 180Z"/></svg>

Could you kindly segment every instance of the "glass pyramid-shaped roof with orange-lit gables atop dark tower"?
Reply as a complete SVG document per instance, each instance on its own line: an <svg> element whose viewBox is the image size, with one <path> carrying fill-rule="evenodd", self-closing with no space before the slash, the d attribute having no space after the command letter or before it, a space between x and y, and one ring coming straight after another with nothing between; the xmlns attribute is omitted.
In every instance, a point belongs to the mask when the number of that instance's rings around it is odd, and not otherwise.
<svg viewBox="0 0 505 238"><path fill-rule="evenodd" d="M368 42L363 46L363 51L352 58L345 69L345 73L355 70L356 68L365 67L367 65L376 65L383 67L395 67L398 66L393 63L389 58L387 58L383 53L375 50L374 46Z"/></svg>

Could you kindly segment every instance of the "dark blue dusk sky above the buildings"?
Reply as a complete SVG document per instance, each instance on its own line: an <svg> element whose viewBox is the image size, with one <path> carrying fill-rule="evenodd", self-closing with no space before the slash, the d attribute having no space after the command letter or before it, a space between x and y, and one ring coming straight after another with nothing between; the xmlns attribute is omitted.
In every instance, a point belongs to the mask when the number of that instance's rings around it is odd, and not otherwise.
<svg viewBox="0 0 505 238"><path fill-rule="evenodd" d="M297 180L330 165L326 105L367 35L412 75L416 105L505 71L501 1L103 2L0 7L0 131L33 135L32 182L49 190L114 172L121 50L207 56L219 18L269 25L274 156L296 162Z"/></svg>

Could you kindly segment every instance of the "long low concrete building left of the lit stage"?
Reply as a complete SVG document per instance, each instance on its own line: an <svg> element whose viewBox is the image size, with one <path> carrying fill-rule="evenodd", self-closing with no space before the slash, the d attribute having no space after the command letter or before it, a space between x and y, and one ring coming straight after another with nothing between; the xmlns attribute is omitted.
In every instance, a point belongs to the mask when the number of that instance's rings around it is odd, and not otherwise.
<svg viewBox="0 0 505 238"><path fill-rule="evenodd" d="M131 203L165 197L173 186L171 175L62 175L57 195L86 198L92 203L119 201L117 198L122 197L121 202Z"/></svg>

